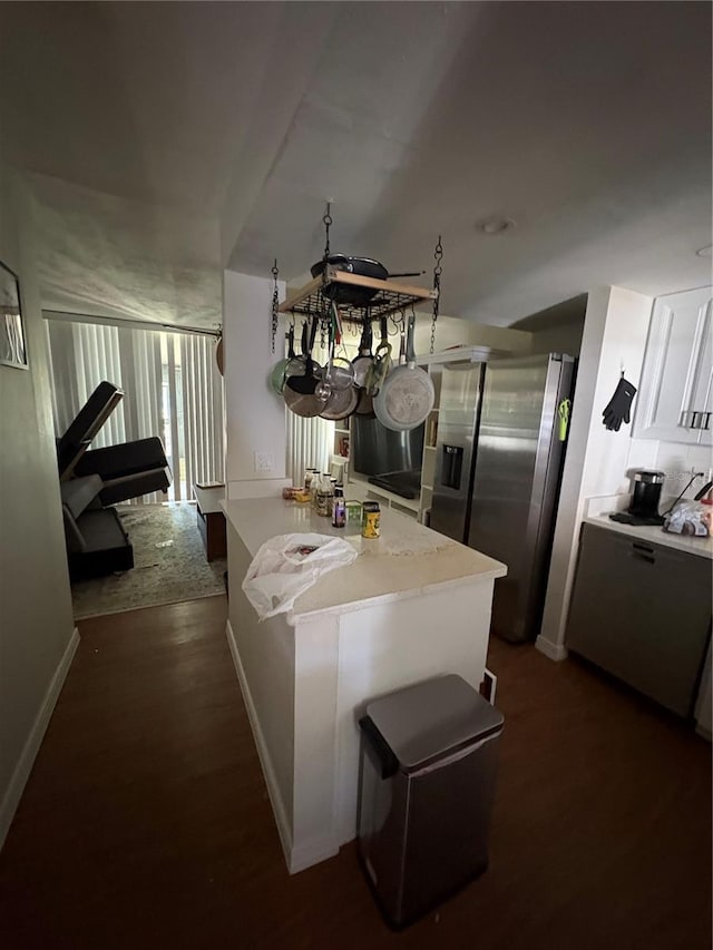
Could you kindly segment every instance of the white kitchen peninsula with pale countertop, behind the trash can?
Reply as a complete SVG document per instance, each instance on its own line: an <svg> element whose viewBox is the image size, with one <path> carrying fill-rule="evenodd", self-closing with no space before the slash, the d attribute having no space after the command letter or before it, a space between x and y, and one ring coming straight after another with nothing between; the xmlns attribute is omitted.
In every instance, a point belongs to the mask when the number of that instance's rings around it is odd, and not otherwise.
<svg viewBox="0 0 713 950"><path fill-rule="evenodd" d="M291 873L356 833L358 721L369 699L442 673L478 688L505 565L394 511L381 538L282 499L226 501L227 637ZM262 623L242 590L277 535L338 535L359 557Z"/></svg>

